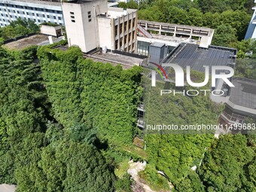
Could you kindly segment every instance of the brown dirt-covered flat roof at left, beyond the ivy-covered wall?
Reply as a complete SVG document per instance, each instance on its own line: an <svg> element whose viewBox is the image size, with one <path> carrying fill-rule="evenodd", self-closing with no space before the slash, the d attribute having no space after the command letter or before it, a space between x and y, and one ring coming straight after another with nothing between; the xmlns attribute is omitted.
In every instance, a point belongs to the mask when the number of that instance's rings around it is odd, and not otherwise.
<svg viewBox="0 0 256 192"><path fill-rule="evenodd" d="M54 39L55 38L53 38L53 40ZM5 44L3 47L11 50L22 50L23 48L29 47L31 45L40 44L43 41L48 41L48 37L46 35L33 35L29 38L23 38L18 41Z"/></svg>

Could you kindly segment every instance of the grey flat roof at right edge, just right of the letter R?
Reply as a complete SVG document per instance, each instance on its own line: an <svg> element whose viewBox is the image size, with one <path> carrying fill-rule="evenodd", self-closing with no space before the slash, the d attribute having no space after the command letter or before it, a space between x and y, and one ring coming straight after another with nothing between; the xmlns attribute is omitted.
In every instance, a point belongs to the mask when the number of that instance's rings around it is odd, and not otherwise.
<svg viewBox="0 0 256 192"><path fill-rule="evenodd" d="M246 108L256 109L256 80L233 78L235 87L231 87L230 102Z"/></svg>

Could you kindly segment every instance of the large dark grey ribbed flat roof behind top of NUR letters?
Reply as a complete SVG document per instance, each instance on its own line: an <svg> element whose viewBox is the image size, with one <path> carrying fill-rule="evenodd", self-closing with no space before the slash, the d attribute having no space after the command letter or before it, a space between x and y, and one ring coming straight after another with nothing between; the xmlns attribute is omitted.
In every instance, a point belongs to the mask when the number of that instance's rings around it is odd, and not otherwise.
<svg viewBox="0 0 256 192"><path fill-rule="evenodd" d="M208 49L200 48L199 44L181 43L163 61L164 63L175 63L198 72L205 72L203 66L227 66L235 62L236 50L227 47L209 46Z"/></svg>

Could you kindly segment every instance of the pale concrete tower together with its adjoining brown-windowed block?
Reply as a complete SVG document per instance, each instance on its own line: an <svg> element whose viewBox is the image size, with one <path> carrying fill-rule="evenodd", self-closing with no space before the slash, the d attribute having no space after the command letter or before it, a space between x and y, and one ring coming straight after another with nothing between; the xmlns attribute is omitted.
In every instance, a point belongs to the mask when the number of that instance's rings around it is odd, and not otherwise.
<svg viewBox="0 0 256 192"><path fill-rule="evenodd" d="M136 52L136 10L108 8L105 0L62 2L62 10L69 46Z"/></svg>

